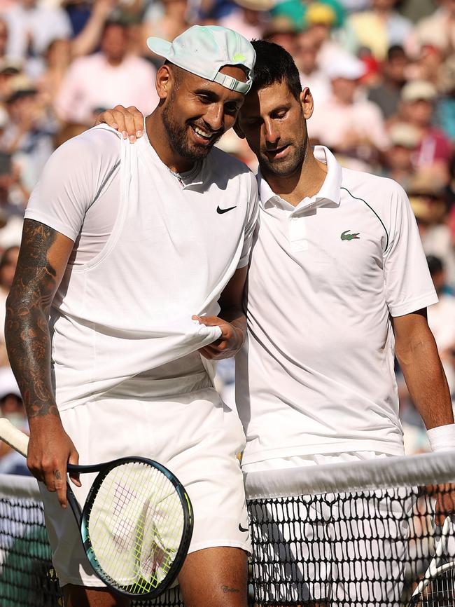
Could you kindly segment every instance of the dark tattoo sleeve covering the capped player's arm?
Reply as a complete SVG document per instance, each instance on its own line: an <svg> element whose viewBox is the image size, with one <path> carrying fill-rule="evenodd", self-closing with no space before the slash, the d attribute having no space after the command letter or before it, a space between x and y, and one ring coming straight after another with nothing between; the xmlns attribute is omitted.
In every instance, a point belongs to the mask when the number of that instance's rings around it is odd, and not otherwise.
<svg viewBox="0 0 455 607"><path fill-rule="evenodd" d="M57 232L25 219L18 267L6 301L5 337L29 418L58 415L50 381L50 305L58 287L48 250Z"/></svg>

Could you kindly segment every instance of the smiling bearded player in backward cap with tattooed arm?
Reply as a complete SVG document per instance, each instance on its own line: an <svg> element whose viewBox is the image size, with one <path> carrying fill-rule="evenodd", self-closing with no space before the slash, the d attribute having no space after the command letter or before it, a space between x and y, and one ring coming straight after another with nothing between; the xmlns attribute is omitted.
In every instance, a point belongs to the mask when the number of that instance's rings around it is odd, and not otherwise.
<svg viewBox="0 0 455 607"><path fill-rule="evenodd" d="M212 360L244 342L258 196L251 171L214 143L251 87L255 51L222 27L148 45L166 62L144 137L132 146L106 125L88 130L55 151L31 194L8 355L66 606L126 604L85 558L66 464L139 455L171 469L193 503L186 605L245 607L244 432ZM83 503L87 483L72 480Z"/></svg>

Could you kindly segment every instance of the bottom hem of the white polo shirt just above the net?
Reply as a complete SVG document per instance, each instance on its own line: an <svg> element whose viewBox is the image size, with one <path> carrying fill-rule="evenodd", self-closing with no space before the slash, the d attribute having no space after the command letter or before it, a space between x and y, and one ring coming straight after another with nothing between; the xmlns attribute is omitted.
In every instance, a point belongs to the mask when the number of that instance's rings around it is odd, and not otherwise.
<svg viewBox="0 0 455 607"><path fill-rule="evenodd" d="M351 451L376 451L389 456L402 456L405 454L403 442L389 443L374 440L338 441L329 444L312 444L280 447L253 453L243 453L241 464L252 464L273 458L288 458L293 456L325 455L329 453L344 453Z"/></svg>

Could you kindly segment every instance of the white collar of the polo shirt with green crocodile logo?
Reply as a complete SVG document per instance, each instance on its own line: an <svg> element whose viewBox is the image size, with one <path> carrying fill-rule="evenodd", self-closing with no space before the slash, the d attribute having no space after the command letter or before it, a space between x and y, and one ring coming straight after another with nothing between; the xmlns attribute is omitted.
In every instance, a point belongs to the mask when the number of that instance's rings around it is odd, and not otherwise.
<svg viewBox="0 0 455 607"><path fill-rule="evenodd" d="M304 198L297 206L294 207L272 191L272 188L265 181L264 177L262 177L259 169L256 179L258 179L261 207L266 209L272 206L278 206L284 209L297 211L308 210L309 208L314 209L315 207L319 207L328 202L339 205L341 196L340 188L342 184L341 166L337 162L335 156L333 156L332 152L325 146L314 146L314 157L316 160L327 165L327 175L325 175L321 189L315 196L311 196L311 198Z"/></svg>

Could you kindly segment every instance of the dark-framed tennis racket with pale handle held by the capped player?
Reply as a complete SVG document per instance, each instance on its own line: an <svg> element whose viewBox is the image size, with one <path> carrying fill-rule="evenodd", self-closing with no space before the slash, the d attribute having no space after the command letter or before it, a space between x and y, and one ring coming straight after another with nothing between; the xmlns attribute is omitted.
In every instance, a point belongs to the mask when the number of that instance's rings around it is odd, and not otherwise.
<svg viewBox="0 0 455 607"><path fill-rule="evenodd" d="M0 439L27 457L29 437L0 418ZM94 573L116 592L152 599L179 573L193 533L193 508L183 485L158 462L126 457L97 465L67 466L98 472L80 509L67 497Z"/></svg>

